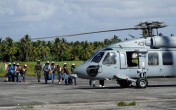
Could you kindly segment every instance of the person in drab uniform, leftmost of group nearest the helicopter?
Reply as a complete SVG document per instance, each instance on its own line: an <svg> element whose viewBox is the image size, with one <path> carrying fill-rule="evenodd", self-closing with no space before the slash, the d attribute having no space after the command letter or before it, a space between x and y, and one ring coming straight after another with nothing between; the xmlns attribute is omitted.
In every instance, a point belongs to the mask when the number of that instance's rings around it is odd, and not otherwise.
<svg viewBox="0 0 176 110"><path fill-rule="evenodd" d="M40 64L40 60L38 60L37 64L34 67L34 72L37 74L38 82L40 82L40 79L41 79L41 71L42 71L42 65Z"/></svg>

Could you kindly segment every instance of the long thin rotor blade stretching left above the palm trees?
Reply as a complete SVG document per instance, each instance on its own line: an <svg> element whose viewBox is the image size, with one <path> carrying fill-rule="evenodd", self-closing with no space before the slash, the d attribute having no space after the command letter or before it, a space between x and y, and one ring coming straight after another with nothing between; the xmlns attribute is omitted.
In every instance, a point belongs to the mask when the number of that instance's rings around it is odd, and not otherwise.
<svg viewBox="0 0 176 110"><path fill-rule="evenodd" d="M31 39L38 40L38 39L48 39L48 38L58 38L58 37L71 37L71 36L80 36L80 35L86 35L86 34L96 34L96 33L105 33L105 32L113 32L113 31L124 31L124 30L138 30L138 29L140 28L112 29L112 30L84 32L84 33L78 33L78 34L67 34L67 35L52 36L52 37L38 37L38 38L31 38Z"/></svg>

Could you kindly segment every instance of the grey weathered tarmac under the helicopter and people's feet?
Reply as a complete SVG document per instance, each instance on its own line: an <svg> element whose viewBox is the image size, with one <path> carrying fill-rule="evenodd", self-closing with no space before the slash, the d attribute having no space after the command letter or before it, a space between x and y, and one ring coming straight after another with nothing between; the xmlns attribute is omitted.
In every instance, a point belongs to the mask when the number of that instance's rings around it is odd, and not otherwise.
<svg viewBox="0 0 176 110"><path fill-rule="evenodd" d="M0 110L173 110L176 109L176 78L149 79L146 89L120 88L115 80L105 87L89 86L89 80L77 78L77 85L54 84L35 77L26 82L0 79ZM118 106L118 103L132 106Z"/></svg>

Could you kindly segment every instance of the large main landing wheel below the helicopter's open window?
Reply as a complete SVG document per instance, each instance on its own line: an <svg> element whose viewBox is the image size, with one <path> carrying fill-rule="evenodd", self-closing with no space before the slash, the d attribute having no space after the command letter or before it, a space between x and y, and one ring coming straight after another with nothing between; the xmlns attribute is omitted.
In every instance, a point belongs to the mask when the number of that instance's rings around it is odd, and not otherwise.
<svg viewBox="0 0 176 110"><path fill-rule="evenodd" d="M137 88L146 88L148 86L148 80L146 78L139 78L136 81Z"/></svg>

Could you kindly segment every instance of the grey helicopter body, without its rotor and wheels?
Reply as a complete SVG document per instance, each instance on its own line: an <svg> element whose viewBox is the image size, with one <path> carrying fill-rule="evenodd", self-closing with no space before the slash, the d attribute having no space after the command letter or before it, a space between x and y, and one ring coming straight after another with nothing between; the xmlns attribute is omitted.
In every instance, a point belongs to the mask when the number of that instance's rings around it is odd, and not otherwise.
<svg viewBox="0 0 176 110"><path fill-rule="evenodd" d="M176 37L154 36L112 44L75 69L84 79L176 76Z"/></svg>

